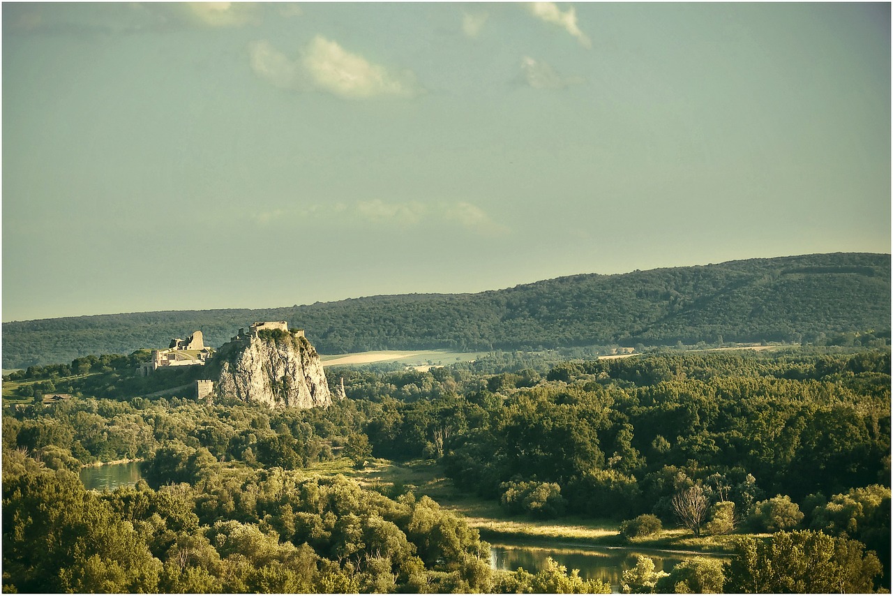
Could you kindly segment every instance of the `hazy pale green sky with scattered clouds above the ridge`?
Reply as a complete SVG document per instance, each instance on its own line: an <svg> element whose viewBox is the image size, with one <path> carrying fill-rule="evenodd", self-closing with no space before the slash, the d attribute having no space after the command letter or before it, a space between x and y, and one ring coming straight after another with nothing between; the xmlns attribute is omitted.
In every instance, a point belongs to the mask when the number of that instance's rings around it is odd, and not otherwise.
<svg viewBox="0 0 893 596"><path fill-rule="evenodd" d="M889 4L2 11L3 321L890 252Z"/></svg>

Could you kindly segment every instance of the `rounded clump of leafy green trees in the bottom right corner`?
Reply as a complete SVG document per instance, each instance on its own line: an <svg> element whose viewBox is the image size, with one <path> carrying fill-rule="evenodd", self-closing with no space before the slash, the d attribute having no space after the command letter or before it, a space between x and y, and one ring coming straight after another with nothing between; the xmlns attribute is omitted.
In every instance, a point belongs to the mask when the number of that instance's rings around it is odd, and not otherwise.
<svg viewBox="0 0 893 596"><path fill-rule="evenodd" d="M742 537L727 592L870 593L881 565L861 542L813 531L779 532L769 541Z"/></svg>

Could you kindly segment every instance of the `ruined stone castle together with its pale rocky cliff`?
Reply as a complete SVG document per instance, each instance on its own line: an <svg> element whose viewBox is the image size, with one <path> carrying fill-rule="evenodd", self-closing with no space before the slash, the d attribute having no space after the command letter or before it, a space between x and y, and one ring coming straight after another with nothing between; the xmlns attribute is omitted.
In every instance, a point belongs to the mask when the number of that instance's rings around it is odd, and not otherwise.
<svg viewBox="0 0 893 596"><path fill-rule="evenodd" d="M167 349L152 350L140 374L172 366L207 365L207 377L196 381L198 399L221 397L270 407L327 407L332 394L316 350L303 329L287 321L254 323L238 330L216 352L204 346L202 332L174 339Z"/></svg>

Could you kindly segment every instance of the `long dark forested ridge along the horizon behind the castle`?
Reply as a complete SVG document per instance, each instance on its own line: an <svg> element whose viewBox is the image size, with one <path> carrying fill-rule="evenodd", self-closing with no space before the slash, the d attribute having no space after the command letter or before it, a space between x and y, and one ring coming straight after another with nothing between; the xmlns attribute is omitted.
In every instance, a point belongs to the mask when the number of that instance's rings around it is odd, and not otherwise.
<svg viewBox="0 0 893 596"><path fill-rule="evenodd" d="M890 256L864 253L580 274L478 294L408 294L268 309L93 315L3 324L3 367L163 347L201 330L288 320L323 354L677 341L818 341L890 329Z"/></svg>

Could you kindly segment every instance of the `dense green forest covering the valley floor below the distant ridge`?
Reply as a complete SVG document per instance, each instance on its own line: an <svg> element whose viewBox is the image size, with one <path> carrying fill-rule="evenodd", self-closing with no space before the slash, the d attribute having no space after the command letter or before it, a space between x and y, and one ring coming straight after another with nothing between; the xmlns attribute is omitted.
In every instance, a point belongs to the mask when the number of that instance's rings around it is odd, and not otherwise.
<svg viewBox="0 0 893 596"><path fill-rule="evenodd" d="M4 591L610 589L493 571L413 487L305 474L344 457L427 458L508 516L613 518L627 540L738 536L725 564L642 558L630 592L889 591L889 347L334 368L346 399L311 410L149 397L129 357L86 360L5 377L76 397L4 405ZM142 460L136 487L74 474L122 458Z"/></svg>

